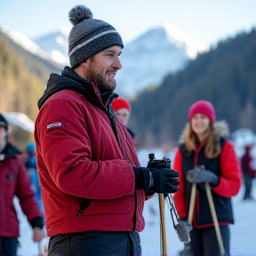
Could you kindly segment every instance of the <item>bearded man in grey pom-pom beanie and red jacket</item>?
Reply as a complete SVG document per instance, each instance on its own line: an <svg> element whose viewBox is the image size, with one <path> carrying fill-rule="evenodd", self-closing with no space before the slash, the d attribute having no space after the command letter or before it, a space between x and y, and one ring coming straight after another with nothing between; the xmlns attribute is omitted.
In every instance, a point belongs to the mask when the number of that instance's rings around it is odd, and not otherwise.
<svg viewBox="0 0 256 256"><path fill-rule="evenodd" d="M124 47L116 29L83 5L69 20L71 68L50 76L36 118L48 255L140 255L145 198L176 192L179 174L165 162L140 167L110 107Z"/></svg>

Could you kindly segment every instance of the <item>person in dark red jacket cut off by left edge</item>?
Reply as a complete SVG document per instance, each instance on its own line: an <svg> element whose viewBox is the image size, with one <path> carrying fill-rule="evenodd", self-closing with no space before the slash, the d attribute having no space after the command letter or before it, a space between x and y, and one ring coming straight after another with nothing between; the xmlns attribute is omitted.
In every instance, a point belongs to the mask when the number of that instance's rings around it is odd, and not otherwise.
<svg viewBox="0 0 256 256"><path fill-rule="evenodd" d="M15 256L19 237L19 220L13 198L20 200L22 212L33 228L33 240L44 238L43 217L34 192L30 187L28 172L20 157L20 151L7 140L8 123L0 114L0 237L2 256Z"/></svg>

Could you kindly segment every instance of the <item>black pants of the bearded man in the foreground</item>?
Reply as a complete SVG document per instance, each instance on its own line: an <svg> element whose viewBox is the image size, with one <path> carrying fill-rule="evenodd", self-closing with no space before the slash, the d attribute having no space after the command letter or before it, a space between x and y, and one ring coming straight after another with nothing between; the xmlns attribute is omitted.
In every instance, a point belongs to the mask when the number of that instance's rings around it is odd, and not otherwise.
<svg viewBox="0 0 256 256"><path fill-rule="evenodd" d="M48 256L140 256L137 232L90 231L52 236Z"/></svg>

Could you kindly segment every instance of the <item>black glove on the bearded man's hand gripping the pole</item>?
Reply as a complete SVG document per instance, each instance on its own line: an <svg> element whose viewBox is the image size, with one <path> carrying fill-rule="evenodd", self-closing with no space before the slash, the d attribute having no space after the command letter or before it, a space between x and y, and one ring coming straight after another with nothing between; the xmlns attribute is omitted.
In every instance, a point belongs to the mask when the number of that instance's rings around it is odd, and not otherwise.
<svg viewBox="0 0 256 256"><path fill-rule="evenodd" d="M162 166L161 164L158 166ZM175 193L180 181L179 172L169 168L133 167L135 174L135 188L152 190L156 193Z"/></svg>

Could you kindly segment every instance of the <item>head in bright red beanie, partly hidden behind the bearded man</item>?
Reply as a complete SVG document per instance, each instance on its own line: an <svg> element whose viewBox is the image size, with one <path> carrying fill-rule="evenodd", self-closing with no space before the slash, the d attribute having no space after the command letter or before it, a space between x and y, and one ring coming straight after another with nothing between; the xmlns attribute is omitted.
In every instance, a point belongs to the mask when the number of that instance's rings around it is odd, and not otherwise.
<svg viewBox="0 0 256 256"><path fill-rule="evenodd" d="M117 98L113 101L111 106L119 120L127 127L131 115L131 106L128 101L124 100L123 98Z"/></svg>

